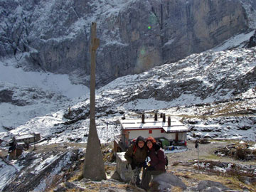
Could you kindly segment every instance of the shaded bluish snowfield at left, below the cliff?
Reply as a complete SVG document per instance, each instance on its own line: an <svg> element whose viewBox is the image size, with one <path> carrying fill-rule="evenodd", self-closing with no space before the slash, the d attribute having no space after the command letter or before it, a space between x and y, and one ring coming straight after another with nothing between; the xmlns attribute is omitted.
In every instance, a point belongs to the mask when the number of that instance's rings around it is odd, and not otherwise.
<svg viewBox="0 0 256 192"><path fill-rule="evenodd" d="M68 75L26 72L15 58L0 61L0 132L15 128L33 117L68 107L72 100L89 93L73 85Z"/></svg>

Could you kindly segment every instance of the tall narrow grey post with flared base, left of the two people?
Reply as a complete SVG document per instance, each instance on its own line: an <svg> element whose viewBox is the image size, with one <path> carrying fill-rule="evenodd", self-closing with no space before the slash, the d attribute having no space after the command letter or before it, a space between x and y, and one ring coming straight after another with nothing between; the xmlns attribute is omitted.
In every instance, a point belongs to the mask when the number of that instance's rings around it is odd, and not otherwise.
<svg viewBox="0 0 256 192"><path fill-rule="evenodd" d="M91 70L90 70L90 129L85 152L83 177L93 181L106 179L105 166L100 149L100 139L95 124L95 68L96 49L100 46L100 39L96 38L96 23L91 26Z"/></svg>

